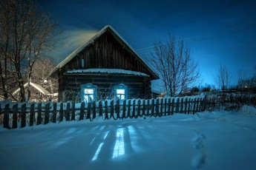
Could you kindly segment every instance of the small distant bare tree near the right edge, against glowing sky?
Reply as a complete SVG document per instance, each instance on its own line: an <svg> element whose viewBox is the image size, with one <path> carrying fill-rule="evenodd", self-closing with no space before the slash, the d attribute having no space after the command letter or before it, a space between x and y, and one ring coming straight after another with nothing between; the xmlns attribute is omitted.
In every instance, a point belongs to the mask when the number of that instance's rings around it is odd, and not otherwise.
<svg viewBox="0 0 256 170"><path fill-rule="evenodd" d="M215 77L215 82L219 89L225 90L229 89L230 83L232 80L232 72L230 72L229 68L226 65L220 63L220 67L218 68L217 75Z"/></svg>

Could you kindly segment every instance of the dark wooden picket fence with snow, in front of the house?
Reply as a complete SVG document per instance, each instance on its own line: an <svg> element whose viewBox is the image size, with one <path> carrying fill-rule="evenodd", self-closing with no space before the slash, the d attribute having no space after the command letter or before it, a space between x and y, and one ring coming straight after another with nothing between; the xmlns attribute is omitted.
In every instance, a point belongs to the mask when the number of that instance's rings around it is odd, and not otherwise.
<svg viewBox="0 0 256 170"><path fill-rule="evenodd" d="M27 125L57 123L63 120L93 120L113 118L161 117L174 113L194 114L205 109L204 96L192 98L131 99L123 101L93 101L91 103L11 103L1 102L0 124L16 129Z"/></svg>

